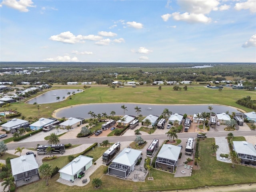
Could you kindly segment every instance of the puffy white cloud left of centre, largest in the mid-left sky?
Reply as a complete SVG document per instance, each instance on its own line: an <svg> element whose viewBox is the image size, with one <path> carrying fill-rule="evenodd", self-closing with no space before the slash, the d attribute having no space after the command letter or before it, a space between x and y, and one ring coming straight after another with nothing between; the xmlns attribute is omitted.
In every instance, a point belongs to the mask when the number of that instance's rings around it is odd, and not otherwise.
<svg viewBox="0 0 256 192"><path fill-rule="evenodd" d="M58 35L53 35L49 39L52 41L75 44L75 43L81 42L83 38L82 38L82 35L75 36L70 31L67 31L67 32L62 32L61 34L58 34Z"/></svg>

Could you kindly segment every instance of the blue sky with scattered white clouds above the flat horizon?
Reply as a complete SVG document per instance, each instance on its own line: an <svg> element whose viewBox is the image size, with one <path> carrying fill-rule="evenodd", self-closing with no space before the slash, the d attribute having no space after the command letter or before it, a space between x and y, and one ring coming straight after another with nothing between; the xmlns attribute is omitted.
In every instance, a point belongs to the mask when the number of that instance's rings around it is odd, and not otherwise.
<svg viewBox="0 0 256 192"><path fill-rule="evenodd" d="M0 60L256 62L256 0L0 0Z"/></svg>

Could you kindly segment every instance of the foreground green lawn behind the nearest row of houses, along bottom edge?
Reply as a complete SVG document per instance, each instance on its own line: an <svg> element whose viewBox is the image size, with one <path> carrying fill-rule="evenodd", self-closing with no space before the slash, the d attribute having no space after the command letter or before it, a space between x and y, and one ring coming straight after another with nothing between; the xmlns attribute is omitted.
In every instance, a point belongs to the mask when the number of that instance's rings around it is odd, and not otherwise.
<svg viewBox="0 0 256 192"><path fill-rule="evenodd" d="M231 167L230 163L220 162L216 160L216 157L211 154L210 144L214 142L214 138L207 138L201 140L199 144L201 162L199 163L199 169L192 171L191 177L174 178L174 174L164 172L161 170L153 170L152 176L154 180L146 180L145 182L132 182L122 179L118 179L112 176L103 175L105 166L100 166L90 176L90 180L93 178L100 178L102 180L102 186L97 191L100 192L146 192L146 191L164 191L164 190L181 190L198 188L204 186L226 186L232 184L245 184L255 182L255 169L248 166L235 165L235 168ZM63 157L65 158L65 157ZM67 159L67 158L66 158ZM66 159L58 159L65 161ZM63 163L64 164L64 163ZM54 164L52 164L54 166ZM45 186L45 182L40 180L27 186L18 188L17 192L43 192L43 191L95 191L91 181L86 186L65 186L56 182L59 174L50 179L49 186Z"/></svg>

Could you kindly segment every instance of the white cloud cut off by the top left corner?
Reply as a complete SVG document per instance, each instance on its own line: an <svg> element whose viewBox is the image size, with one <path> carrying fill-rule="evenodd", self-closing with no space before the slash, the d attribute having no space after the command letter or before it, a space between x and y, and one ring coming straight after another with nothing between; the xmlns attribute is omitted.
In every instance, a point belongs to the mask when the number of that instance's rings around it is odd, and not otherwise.
<svg viewBox="0 0 256 192"><path fill-rule="evenodd" d="M28 7L36 7L32 0L3 0L2 5L19 10L20 12L28 12Z"/></svg>

